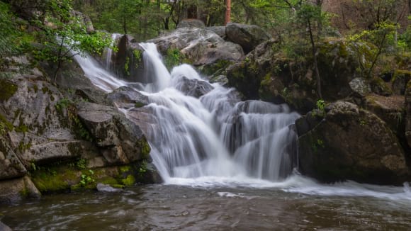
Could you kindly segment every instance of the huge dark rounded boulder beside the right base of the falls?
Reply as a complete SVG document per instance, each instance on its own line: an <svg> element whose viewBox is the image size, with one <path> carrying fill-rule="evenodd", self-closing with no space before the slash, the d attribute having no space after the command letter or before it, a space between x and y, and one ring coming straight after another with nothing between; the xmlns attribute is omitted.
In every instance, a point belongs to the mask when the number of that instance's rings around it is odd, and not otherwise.
<svg viewBox="0 0 411 231"><path fill-rule="evenodd" d="M326 182L402 184L409 179L397 137L380 118L352 103L332 103L325 112L298 119L296 126L303 174Z"/></svg>

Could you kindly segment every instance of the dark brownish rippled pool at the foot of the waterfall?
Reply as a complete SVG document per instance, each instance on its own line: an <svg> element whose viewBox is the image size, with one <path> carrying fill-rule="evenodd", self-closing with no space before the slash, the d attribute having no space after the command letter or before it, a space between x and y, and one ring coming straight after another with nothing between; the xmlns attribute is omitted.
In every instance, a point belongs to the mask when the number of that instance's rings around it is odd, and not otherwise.
<svg viewBox="0 0 411 231"><path fill-rule="evenodd" d="M411 200L281 188L136 186L1 205L15 230L410 230Z"/></svg>

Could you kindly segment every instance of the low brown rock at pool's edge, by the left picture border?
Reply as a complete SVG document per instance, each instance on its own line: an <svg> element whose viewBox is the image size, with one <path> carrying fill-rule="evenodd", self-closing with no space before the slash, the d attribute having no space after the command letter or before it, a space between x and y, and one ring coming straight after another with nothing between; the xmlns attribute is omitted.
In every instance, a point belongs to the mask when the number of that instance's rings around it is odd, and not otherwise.
<svg viewBox="0 0 411 231"><path fill-rule="evenodd" d="M0 181L0 204L16 203L23 198L39 198L40 192L28 176Z"/></svg>

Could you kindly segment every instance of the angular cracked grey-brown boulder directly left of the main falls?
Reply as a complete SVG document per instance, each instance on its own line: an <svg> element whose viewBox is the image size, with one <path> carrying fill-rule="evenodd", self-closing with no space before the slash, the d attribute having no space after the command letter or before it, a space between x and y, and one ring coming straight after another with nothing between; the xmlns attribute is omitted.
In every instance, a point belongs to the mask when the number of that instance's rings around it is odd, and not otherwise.
<svg viewBox="0 0 411 231"><path fill-rule="evenodd" d="M148 157L150 146L142 130L116 108L84 102L78 110L108 163L128 164Z"/></svg>

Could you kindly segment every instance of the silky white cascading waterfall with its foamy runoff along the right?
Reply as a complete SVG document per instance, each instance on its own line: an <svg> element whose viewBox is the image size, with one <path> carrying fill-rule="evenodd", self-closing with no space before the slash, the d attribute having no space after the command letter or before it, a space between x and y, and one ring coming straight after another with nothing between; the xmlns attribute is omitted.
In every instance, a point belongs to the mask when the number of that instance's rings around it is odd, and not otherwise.
<svg viewBox="0 0 411 231"><path fill-rule="evenodd" d="M218 84L199 99L185 96L176 90L176 79L201 79L198 73L184 64L169 74L155 45L142 47L152 78L142 94L149 97L146 108L155 118L146 135L165 184L281 188L291 193L372 196L411 203L407 184L403 188L353 181L325 185L293 173L297 157L291 126L297 113L286 105L240 102L233 89ZM76 60L86 77L105 91L128 85L99 67L92 57Z"/></svg>

